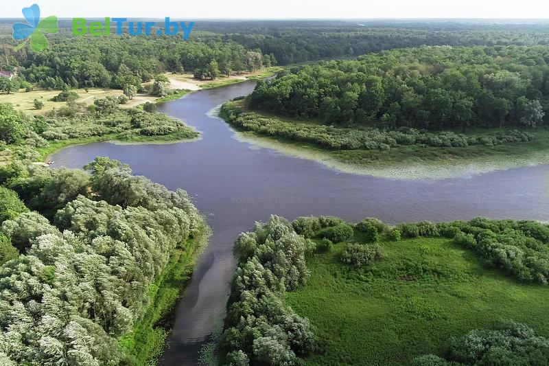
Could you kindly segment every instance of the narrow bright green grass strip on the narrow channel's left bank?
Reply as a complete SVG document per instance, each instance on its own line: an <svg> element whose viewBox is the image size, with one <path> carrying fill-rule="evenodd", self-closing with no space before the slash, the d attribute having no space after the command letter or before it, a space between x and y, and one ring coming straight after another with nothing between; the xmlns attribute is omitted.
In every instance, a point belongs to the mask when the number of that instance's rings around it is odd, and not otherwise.
<svg viewBox="0 0 549 366"><path fill-rule="evenodd" d="M156 365L156 358L162 354L172 329L175 306L210 235L211 229L204 224L199 236L176 249L164 271L150 286L150 306L143 319L119 340L131 365Z"/></svg>

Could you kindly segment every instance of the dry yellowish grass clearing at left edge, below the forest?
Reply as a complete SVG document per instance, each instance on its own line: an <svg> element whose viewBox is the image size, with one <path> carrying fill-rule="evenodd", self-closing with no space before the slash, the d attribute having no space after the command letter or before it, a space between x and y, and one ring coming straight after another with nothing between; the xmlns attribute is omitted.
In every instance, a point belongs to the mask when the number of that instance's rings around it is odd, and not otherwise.
<svg viewBox="0 0 549 366"><path fill-rule="evenodd" d="M99 89L99 88L90 88L88 92L84 89L73 89L75 93L78 93L79 97L76 102L84 103L86 105L93 104L93 101L100 98L105 98L108 95L121 95L122 91L117 89ZM11 94L0 94L0 103L12 103L14 108L19 111L24 111L25 113L30 114L43 114L47 111L51 111L53 108L60 108L65 106L65 102L51 102L51 98L54 98L58 95L60 91L54 90L45 90L45 89L36 89L25 93L20 91L18 93ZM34 109L34 100L40 100L44 103L44 108L40 110ZM126 104L121 104L122 107L137 106L145 102L154 102L157 98L150 95L138 94L135 98L128 101Z"/></svg>

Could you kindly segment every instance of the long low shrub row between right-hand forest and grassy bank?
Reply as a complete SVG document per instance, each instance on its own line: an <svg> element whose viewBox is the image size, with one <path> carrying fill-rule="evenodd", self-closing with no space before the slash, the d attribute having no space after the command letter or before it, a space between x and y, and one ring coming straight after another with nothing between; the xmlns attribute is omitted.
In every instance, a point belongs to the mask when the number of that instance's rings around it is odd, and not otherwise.
<svg viewBox="0 0 549 366"><path fill-rule="evenodd" d="M533 135L522 130L506 130L493 135L463 135L449 131L430 133L415 128L395 130L379 128L341 128L315 124L284 122L277 117L242 112L233 102L223 104L220 115L235 128L260 135L303 141L331 150L388 150L399 146L423 145L432 147L495 146L510 142L526 142Z"/></svg>

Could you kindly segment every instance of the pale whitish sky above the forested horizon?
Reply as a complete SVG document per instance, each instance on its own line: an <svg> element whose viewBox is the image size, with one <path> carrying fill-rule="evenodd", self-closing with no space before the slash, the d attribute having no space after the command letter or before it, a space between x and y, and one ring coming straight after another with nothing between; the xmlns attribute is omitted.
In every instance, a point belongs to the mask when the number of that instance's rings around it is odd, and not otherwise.
<svg viewBox="0 0 549 366"><path fill-rule="evenodd" d="M548 0L0 0L0 18L22 17L37 3L42 16L178 19L549 19Z"/></svg>

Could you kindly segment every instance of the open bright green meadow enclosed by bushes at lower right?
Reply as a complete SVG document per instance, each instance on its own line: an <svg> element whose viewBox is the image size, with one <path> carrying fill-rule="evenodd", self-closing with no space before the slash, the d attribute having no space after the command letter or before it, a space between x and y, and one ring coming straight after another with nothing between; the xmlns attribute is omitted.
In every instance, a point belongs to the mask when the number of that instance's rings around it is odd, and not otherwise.
<svg viewBox="0 0 549 366"><path fill-rule="evenodd" d="M501 319L549 336L548 288L487 269L452 240L380 245L384 259L362 269L339 262L344 244L315 254L307 284L286 293L320 339L320 352L306 365L408 365L414 356L443 354L452 336Z"/></svg>

